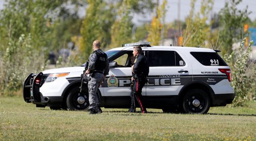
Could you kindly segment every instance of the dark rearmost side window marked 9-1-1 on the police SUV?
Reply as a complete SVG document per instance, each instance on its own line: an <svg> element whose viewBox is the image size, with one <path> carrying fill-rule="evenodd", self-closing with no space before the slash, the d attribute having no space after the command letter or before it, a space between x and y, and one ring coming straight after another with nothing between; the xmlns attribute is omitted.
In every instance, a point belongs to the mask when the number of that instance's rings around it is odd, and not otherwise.
<svg viewBox="0 0 256 141"><path fill-rule="evenodd" d="M217 52L190 52L204 66L227 66Z"/></svg>

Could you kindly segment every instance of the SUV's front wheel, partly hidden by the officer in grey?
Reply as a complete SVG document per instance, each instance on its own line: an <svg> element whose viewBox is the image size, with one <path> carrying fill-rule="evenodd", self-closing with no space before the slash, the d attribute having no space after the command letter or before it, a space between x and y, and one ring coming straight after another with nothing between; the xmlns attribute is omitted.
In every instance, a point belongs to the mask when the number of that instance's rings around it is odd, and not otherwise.
<svg viewBox="0 0 256 141"><path fill-rule="evenodd" d="M67 97L67 107L68 110L85 110L89 108L89 96L88 88L82 87L82 92L80 93L79 86L74 87L69 91Z"/></svg>

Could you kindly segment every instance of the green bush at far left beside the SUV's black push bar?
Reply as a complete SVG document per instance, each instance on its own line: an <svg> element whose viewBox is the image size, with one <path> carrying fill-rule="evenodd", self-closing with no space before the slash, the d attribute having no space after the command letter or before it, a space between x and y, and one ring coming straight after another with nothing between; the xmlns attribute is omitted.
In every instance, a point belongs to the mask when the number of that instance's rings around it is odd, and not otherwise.
<svg viewBox="0 0 256 141"><path fill-rule="evenodd" d="M26 76L44 69L44 53L31 48L31 36L22 35L9 41L4 57L0 60L0 95L13 96L20 90ZM42 67L43 66L43 67Z"/></svg>

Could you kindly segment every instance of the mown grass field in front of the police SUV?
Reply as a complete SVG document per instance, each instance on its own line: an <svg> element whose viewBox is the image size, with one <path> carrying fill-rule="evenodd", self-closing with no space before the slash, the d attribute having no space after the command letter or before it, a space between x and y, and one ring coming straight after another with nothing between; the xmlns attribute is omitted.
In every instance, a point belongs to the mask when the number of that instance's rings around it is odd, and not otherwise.
<svg viewBox="0 0 256 141"><path fill-rule="evenodd" d="M212 107L206 115L102 110L89 115L0 97L0 140L256 140L256 102L243 108Z"/></svg>

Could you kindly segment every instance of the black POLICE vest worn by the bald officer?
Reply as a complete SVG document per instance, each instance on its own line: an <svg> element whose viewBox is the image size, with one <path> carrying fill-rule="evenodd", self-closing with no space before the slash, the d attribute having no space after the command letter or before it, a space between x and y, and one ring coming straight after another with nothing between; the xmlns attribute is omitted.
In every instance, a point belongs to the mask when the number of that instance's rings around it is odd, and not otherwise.
<svg viewBox="0 0 256 141"><path fill-rule="evenodd" d="M106 60L108 57L103 51L100 50L95 50L93 53L96 53L97 55L97 61L95 63L95 70L94 71L104 71L105 65L106 65Z"/></svg>

